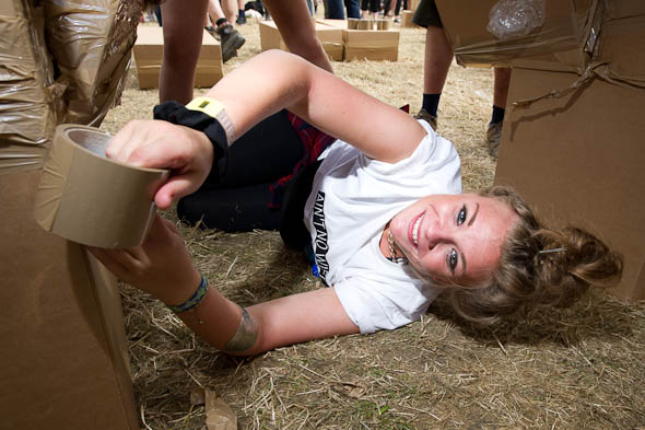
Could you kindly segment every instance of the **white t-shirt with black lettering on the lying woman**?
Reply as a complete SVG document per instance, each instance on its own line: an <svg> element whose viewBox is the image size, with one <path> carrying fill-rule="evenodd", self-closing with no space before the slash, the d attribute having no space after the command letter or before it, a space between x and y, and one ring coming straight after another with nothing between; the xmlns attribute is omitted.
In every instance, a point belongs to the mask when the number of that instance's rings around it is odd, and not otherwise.
<svg viewBox="0 0 645 430"><path fill-rule="evenodd" d="M332 143L320 155L305 205L320 277L361 333L419 319L438 293L410 265L385 258L378 246L385 225L402 209L427 195L461 193L457 151L420 124L427 135L395 164L370 159L347 142Z"/></svg>

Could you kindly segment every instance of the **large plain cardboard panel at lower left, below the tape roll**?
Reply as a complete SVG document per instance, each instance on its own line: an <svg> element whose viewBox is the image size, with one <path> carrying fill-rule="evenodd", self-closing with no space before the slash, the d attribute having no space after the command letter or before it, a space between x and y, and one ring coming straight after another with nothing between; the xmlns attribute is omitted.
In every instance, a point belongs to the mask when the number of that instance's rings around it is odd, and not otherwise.
<svg viewBox="0 0 645 430"><path fill-rule="evenodd" d="M0 427L139 429L116 280L36 224L39 176L0 175Z"/></svg>

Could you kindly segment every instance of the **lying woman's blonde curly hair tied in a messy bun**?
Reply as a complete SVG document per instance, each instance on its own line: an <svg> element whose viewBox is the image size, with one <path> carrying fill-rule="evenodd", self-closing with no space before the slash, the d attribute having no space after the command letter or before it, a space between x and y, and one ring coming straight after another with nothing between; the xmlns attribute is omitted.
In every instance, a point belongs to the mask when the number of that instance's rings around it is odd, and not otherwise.
<svg viewBox="0 0 645 430"><path fill-rule="evenodd" d="M526 304L567 306L589 286L608 287L620 280L622 255L591 233L574 226L546 228L509 187L478 194L508 205L518 221L508 231L500 264L489 279L446 288L448 302L464 318L490 324Z"/></svg>

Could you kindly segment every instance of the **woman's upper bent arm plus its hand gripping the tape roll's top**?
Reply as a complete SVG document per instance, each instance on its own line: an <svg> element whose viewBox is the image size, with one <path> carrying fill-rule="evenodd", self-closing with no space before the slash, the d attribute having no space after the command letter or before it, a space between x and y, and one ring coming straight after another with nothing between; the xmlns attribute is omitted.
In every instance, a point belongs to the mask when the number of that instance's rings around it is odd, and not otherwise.
<svg viewBox="0 0 645 430"><path fill-rule="evenodd" d="M262 53L224 77L207 94L225 106L236 136L288 108L368 156L397 162L410 155L425 130L408 114L361 92L333 74L283 51ZM129 123L107 149L112 159L144 167L171 168L155 195L166 209L206 179L213 148L200 131L166 121Z"/></svg>

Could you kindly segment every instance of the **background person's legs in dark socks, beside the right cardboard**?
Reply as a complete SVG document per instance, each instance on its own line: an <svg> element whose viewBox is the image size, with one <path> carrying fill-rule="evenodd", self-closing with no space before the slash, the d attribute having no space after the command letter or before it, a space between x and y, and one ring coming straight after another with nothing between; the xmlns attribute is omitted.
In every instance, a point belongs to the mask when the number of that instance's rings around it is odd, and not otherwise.
<svg viewBox="0 0 645 430"><path fill-rule="evenodd" d="M423 103L415 117L425 119L436 130L439 97L446 83L454 53L444 32L434 0L421 0L412 22L427 30L423 61ZM494 73L493 114L486 130L486 144L491 156L496 159L508 96L511 69L496 67Z"/></svg>

